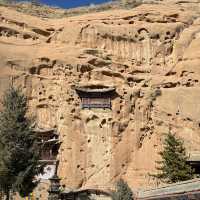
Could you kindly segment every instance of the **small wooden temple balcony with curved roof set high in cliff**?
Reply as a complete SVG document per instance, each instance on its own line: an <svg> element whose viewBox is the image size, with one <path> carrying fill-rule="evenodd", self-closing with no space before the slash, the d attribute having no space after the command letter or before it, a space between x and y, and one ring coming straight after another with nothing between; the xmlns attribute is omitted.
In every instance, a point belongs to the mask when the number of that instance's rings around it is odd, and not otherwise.
<svg viewBox="0 0 200 200"><path fill-rule="evenodd" d="M81 98L82 109L103 108L111 109L111 99L114 95L115 88L77 88L79 97Z"/></svg>

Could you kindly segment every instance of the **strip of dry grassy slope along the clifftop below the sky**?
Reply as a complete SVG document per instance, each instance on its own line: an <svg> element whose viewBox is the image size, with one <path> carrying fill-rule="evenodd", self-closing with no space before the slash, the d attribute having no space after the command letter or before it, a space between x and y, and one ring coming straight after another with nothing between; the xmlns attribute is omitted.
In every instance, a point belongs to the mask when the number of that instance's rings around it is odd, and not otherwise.
<svg viewBox="0 0 200 200"><path fill-rule="evenodd" d="M50 7L44 4L34 5L30 2L21 2L21 3L5 3L5 0L0 0L0 6L10 7L19 12L26 13L33 16L38 16L42 18L62 18L70 17L76 15L82 15L86 13L101 12L112 9L130 9L136 7L142 3L142 0L115 0L112 2L100 4L100 5L91 5L85 7L78 7L73 9L62 9L58 7Z"/></svg>

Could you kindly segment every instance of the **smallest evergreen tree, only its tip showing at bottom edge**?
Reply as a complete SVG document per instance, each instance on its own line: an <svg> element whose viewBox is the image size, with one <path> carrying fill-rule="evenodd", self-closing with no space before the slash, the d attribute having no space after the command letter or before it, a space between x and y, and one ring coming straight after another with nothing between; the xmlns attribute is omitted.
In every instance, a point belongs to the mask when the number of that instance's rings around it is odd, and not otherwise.
<svg viewBox="0 0 200 200"><path fill-rule="evenodd" d="M116 191L113 193L114 200L133 200L133 192L128 184L120 179L117 182Z"/></svg>

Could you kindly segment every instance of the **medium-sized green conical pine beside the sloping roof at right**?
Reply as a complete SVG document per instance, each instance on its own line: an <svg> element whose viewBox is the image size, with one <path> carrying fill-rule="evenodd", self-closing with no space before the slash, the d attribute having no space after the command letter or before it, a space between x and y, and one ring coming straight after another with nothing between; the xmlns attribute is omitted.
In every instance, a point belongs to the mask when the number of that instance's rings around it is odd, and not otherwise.
<svg viewBox="0 0 200 200"><path fill-rule="evenodd" d="M190 180L194 177L194 170L187 163L186 149L183 141L169 133L164 142L164 150L159 153L162 160L157 161L158 174L153 175L166 183L176 183Z"/></svg>

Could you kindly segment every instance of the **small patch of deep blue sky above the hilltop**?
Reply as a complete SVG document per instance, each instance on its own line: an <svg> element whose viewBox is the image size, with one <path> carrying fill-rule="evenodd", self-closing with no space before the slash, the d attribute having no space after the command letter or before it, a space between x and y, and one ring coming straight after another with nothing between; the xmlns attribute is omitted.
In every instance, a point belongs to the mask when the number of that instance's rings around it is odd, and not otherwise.
<svg viewBox="0 0 200 200"><path fill-rule="evenodd" d="M53 5L53 6L59 6L63 8L85 6L85 5L90 5L92 3L100 4L100 3L104 3L108 1L109 0L40 0L40 2L42 3Z"/></svg>

